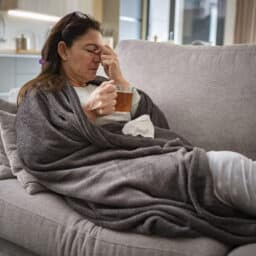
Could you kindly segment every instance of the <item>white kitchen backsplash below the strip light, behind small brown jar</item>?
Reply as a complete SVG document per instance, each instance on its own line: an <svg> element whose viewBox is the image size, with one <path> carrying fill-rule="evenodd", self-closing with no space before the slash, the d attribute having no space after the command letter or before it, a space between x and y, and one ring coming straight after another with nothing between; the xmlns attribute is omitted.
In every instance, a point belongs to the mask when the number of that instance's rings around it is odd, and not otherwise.
<svg viewBox="0 0 256 256"><path fill-rule="evenodd" d="M53 22L15 18L0 11L0 50L14 50L15 39L23 34L27 49L40 51ZM3 20L4 19L4 20ZM4 40L1 40L4 39Z"/></svg>

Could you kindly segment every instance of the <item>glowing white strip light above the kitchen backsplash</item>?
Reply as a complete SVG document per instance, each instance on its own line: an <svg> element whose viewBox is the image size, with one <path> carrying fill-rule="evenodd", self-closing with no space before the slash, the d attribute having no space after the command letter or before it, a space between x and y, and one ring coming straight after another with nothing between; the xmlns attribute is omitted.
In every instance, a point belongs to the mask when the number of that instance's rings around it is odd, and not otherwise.
<svg viewBox="0 0 256 256"><path fill-rule="evenodd" d="M33 20L51 21L51 22L57 22L60 19L60 17L58 16L46 15L46 14L41 14L36 12L27 12L22 10L9 10L8 15L24 18L24 19L33 19Z"/></svg>

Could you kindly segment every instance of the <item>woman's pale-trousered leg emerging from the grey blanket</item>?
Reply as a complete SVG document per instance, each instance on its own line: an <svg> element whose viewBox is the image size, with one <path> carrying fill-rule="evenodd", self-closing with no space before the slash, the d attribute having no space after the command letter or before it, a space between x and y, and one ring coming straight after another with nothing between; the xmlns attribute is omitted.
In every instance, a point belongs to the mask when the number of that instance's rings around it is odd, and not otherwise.
<svg viewBox="0 0 256 256"><path fill-rule="evenodd" d="M209 151L207 156L219 200L256 216L256 161L232 151Z"/></svg>

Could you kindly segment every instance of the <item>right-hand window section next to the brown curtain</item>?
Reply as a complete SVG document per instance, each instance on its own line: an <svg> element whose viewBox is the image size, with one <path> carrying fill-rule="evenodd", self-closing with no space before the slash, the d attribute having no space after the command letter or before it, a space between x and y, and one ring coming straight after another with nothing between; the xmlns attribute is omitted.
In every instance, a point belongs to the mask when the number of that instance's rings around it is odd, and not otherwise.
<svg viewBox="0 0 256 256"><path fill-rule="evenodd" d="M195 41L216 45L223 44L226 0L182 0L175 10L175 41L191 44ZM179 0L181 3L182 1ZM177 2L177 1L176 1Z"/></svg>

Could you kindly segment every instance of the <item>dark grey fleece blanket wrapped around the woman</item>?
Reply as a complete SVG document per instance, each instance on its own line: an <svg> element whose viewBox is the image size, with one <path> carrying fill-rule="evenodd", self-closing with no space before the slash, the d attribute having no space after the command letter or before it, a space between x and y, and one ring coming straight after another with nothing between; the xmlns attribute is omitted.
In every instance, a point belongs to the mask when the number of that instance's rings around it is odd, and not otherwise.
<svg viewBox="0 0 256 256"><path fill-rule="evenodd" d="M31 90L16 120L24 168L106 228L255 242L256 220L215 198L204 150L169 130L163 113L140 93L135 117L150 115L155 139L122 135L122 123L93 125L69 85L55 93Z"/></svg>

